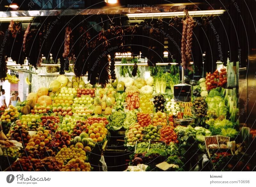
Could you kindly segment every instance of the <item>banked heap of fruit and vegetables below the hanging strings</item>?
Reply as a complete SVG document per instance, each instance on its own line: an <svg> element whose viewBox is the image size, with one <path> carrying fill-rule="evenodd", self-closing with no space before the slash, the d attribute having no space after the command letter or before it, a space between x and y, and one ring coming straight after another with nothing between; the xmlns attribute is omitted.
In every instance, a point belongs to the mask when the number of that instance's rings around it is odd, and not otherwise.
<svg viewBox="0 0 256 187"><path fill-rule="evenodd" d="M171 73L159 74L173 85ZM231 106L236 95L225 89L225 74L221 78L216 70L190 81L192 100L180 102L173 87L158 91L157 74L105 87L60 75L16 106L1 107L3 132L15 140L15 146L1 147L1 169L97 171L98 155L122 149L123 170L250 170L251 155L244 150L255 132L239 129Z"/></svg>

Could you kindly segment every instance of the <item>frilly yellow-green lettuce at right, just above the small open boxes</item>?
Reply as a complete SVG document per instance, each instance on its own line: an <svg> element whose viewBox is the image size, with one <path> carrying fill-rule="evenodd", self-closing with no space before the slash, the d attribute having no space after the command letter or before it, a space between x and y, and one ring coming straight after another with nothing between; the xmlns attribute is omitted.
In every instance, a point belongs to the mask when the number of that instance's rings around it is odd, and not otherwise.
<svg viewBox="0 0 256 187"><path fill-rule="evenodd" d="M209 130L212 132L212 135L229 136L231 138L236 137L238 134L236 131L236 124L232 123L228 119L215 120Z"/></svg>

